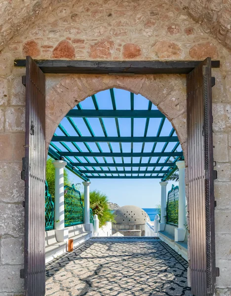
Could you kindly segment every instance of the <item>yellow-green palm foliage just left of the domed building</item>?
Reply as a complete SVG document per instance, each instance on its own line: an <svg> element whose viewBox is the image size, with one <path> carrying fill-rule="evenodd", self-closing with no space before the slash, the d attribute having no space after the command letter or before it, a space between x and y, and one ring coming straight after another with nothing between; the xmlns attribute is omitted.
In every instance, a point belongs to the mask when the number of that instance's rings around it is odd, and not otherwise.
<svg viewBox="0 0 231 296"><path fill-rule="evenodd" d="M83 194L82 202L84 202ZM108 202L108 197L104 193L98 190L90 191L90 208L92 209L93 216L98 215L100 227L108 221L114 221L114 215L109 209Z"/></svg>

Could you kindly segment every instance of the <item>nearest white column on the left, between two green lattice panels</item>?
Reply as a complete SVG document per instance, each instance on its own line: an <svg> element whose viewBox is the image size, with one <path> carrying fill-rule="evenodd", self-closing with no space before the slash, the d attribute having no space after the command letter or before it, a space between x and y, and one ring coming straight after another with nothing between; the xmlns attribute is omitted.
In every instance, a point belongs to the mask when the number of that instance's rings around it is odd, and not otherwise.
<svg viewBox="0 0 231 296"><path fill-rule="evenodd" d="M54 160L52 163L55 167L54 228L64 229L64 168L67 162L64 160Z"/></svg>

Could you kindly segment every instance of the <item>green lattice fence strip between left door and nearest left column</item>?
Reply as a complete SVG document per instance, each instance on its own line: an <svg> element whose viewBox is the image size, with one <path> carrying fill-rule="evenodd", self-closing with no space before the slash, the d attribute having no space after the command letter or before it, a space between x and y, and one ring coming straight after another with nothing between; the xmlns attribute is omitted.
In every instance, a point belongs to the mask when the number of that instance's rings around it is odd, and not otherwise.
<svg viewBox="0 0 231 296"><path fill-rule="evenodd" d="M54 229L54 203L45 183L45 230Z"/></svg>

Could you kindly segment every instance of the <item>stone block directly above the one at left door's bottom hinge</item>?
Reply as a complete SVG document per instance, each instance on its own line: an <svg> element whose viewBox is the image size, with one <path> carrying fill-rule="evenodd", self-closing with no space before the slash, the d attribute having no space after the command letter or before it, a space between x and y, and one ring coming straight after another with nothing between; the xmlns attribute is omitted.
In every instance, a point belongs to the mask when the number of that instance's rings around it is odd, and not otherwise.
<svg viewBox="0 0 231 296"><path fill-rule="evenodd" d="M24 264L24 237L2 237L0 244L1 264Z"/></svg>

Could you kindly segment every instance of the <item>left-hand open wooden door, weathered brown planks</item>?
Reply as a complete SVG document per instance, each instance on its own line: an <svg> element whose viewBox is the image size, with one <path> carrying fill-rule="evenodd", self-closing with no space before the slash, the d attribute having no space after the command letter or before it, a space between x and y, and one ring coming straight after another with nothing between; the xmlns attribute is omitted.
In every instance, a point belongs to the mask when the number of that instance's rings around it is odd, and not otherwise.
<svg viewBox="0 0 231 296"><path fill-rule="evenodd" d="M45 295L45 75L26 58L24 286L26 296Z"/></svg>

